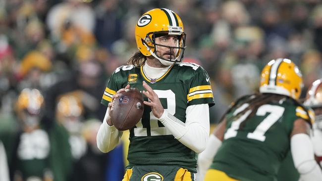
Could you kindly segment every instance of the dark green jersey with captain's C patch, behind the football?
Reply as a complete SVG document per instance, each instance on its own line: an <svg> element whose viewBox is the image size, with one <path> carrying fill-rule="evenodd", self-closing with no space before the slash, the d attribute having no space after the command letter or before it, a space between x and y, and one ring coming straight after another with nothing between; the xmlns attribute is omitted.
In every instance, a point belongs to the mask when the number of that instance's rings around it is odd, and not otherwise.
<svg viewBox="0 0 322 181"><path fill-rule="evenodd" d="M192 63L175 63L156 80L150 80L143 67L121 66L109 79L101 103L107 105L112 95L127 84L144 90L143 81L158 94L163 108L182 122L186 121L188 106L214 105L207 72ZM128 168L135 165L173 165L196 173L197 154L169 133L152 114L151 107L145 106L141 121L130 129L129 139Z"/></svg>

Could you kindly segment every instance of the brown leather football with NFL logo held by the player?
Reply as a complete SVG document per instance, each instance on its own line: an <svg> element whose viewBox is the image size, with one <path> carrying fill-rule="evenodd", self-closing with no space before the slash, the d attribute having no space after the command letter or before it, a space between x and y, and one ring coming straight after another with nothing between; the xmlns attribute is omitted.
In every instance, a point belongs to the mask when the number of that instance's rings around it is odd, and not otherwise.
<svg viewBox="0 0 322 181"><path fill-rule="evenodd" d="M143 111L142 93L131 88L119 93L113 100L110 118L117 130L129 130L140 121Z"/></svg>

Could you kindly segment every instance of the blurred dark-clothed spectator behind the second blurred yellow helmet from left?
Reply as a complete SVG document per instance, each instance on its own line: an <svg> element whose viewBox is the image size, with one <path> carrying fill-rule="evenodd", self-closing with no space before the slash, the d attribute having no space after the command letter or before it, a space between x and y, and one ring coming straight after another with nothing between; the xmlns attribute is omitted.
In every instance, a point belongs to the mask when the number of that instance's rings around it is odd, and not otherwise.
<svg viewBox="0 0 322 181"><path fill-rule="evenodd" d="M63 80L57 82L50 87L46 94L46 121L50 126L55 117L55 107L57 98L68 92L77 92L79 98L84 105L84 116L87 118L102 118L104 117L104 107L100 106L102 82L102 67L98 61L82 61L79 62L77 70L69 77L64 77Z"/></svg>

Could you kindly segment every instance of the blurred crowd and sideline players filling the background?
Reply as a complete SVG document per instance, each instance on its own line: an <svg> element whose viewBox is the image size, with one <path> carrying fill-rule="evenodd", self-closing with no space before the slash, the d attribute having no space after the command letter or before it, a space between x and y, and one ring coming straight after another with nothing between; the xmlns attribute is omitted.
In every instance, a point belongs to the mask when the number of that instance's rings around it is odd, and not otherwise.
<svg viewBox="0 0 322 181"><path fill-rule="evenodd" d="M115 156L96 147L100 101L108 76L137 50L137 20L156 7L181 17L184 61L211 77L212 123L258 90L271 59L300 67L301 98L322 77L320 0L0 0L0 142L14 181L122 177L123 148Z"/></svg>

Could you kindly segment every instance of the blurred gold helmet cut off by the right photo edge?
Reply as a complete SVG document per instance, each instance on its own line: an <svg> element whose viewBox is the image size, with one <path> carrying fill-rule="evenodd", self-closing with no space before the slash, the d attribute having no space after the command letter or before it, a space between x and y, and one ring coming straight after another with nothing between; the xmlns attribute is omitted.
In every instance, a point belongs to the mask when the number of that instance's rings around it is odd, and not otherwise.
<svg viewBox="0 0 322 181"><path fill-rule="evenodd" d="M306 94L304 105L311 108L322 107L322 79L312 83Z"/></svg>

